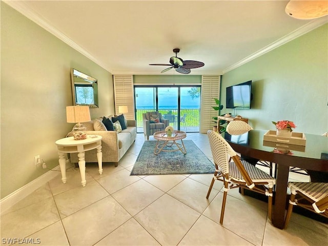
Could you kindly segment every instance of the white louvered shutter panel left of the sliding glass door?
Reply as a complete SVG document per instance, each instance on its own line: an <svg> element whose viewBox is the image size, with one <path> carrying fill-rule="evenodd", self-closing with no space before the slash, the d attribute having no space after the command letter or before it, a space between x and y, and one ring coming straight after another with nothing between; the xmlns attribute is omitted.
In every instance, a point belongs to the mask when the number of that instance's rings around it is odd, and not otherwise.
<svg viewBox="0 0 328 246"><path fill-rule="evenodd" d="M124 115L127 119L135 119L133 75L114 75L114 98L116 114L119 114L119 106L128 106L129 112Z"/></svg>

